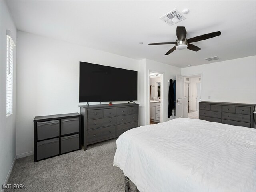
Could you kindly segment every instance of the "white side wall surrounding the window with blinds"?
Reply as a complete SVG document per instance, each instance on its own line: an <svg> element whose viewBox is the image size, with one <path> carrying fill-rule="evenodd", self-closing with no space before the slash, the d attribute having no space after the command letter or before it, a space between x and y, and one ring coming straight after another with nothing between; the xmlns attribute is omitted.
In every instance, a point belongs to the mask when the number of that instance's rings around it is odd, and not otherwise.
<svg viewBox="0 0 256 192"><path fill-rule="evenodd" d="M0 181L6 184L16 159L16 47L14 46L13 114L6 118L6 30L16 43L16 27L5 1L0 1Z"/></svg>

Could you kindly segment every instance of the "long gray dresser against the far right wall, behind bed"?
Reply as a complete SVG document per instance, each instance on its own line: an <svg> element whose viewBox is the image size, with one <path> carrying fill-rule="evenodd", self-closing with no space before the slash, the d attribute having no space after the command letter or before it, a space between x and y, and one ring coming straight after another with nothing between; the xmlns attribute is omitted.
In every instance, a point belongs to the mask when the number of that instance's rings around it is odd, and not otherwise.
<svg viewBox="0 0 256 192"><path fill-rule="evenodd" d="M199 119L254 128L256 104L199 102Z"/></svg>

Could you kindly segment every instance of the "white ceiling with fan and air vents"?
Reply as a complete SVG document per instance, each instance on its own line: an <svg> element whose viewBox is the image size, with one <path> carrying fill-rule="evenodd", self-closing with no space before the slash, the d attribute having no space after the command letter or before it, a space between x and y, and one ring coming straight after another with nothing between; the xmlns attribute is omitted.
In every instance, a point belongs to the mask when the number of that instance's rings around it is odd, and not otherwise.
<svg viewBox="0 0 256 192"><path fill-rule="evenodd" d="M178 67L256 55L256 1L8 1L18 30L134 58ZM159 18L188 8L186 19L169 26ZM164 54L174 45L176 27L187 38L220 30L221 35L195 42L201 48ZM144 42L144 44L139 44Z"/></svg>

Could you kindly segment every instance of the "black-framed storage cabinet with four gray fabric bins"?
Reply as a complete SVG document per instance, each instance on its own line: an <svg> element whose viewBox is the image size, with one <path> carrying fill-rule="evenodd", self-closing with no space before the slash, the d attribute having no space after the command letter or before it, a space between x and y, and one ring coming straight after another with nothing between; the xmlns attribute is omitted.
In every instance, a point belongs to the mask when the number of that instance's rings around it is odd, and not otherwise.
<svg viewBox="0 0 256 192"><path fill-rule="evenodd" d="M79 113L34 118L34 162L81 149Z"/></svg>

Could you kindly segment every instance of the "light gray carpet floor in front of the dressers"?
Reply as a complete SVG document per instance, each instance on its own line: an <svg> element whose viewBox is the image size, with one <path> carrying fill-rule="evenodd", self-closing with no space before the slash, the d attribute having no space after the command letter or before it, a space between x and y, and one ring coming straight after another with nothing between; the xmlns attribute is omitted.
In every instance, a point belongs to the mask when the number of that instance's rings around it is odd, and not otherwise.
<svg viewBox="0 0 256 192"><path fill-rule="evenodd" d="M124 174L113 166L116 139L34 163L34 156L16 160L8 184L25 184L28 192L124 192ZM129 192L135 192L130 182Z"/></svg>

